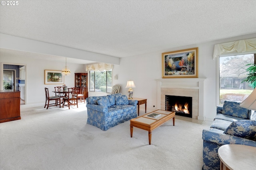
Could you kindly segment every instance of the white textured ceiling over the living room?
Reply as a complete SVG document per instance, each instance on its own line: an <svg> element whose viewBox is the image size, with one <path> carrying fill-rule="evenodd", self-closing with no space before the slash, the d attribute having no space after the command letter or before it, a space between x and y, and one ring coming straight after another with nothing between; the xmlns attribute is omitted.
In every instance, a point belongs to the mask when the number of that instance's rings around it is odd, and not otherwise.
<svg viewBox="0 0 256 170"><path fill-rule="evenodd" d="M256 33L256 0L22 0L0 33L129 57Z"/></svg>

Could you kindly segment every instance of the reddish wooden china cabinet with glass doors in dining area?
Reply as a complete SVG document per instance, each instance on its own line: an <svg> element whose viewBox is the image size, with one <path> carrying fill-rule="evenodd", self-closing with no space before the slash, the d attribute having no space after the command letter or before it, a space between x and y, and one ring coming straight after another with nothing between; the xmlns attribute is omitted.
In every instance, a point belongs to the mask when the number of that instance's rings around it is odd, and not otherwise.
<svg viewBox="0 0 256 170"><path fill-rule="evenodd" d="M75 73L75 87L79 89L78 94L81 94L81 87L84 88L84 97L88 98L88 77L87 73Z"/></svg>

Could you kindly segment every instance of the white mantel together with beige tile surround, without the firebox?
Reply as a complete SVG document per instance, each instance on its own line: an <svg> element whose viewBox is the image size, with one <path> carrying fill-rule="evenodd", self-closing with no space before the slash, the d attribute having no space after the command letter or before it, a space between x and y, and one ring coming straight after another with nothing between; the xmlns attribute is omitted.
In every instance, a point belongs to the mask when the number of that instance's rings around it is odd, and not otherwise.
<svg viewBox="0 0 256 170"><path fill-rule="evenodd" d="M165 110L165 95L192 97L192 118L204 121L206 78L168 78L157 81L157 109Z"/></svg>

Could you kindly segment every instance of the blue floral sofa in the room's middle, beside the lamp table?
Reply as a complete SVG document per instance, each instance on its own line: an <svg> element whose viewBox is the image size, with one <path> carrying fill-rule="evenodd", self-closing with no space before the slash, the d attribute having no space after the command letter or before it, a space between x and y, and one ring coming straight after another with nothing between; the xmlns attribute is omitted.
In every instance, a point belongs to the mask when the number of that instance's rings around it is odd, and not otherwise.
<svg viewBox="0 0 256 170"><path fill-rule="evenodd" d="M137 117L137 103L138 100L128 100L121 93L86 98L87 124L106 131Z"/></svg>

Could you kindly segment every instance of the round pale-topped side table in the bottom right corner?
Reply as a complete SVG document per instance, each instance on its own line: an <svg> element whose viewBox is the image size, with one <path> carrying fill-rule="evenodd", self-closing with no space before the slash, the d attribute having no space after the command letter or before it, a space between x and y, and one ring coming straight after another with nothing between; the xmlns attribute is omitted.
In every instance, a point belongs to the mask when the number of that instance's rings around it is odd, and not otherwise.
<svg viewBox="0 0 256 170"><path fill-rule="evenodd" d="M222 145L218 149L220 170L255 170L256 147L247 145Z"/></svg>

